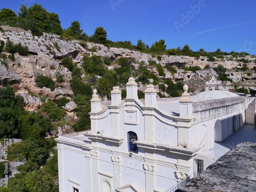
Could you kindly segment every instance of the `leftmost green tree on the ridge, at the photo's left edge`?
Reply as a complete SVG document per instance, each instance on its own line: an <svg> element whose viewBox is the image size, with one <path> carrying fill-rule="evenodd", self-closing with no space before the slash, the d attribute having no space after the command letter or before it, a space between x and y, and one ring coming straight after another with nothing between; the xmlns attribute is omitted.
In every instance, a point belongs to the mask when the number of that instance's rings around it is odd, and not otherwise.
<svg viewBox="0 0 256 192"><path fill-rule="evenodd" d="M18 17L11 9L3 8L0 11L0 25L16 26Z"/></svg>

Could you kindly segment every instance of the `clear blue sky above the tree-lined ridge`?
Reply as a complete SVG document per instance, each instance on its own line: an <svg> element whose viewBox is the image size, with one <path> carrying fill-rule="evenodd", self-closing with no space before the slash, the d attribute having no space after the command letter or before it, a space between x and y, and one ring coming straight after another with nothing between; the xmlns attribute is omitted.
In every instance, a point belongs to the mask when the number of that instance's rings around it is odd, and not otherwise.
<svg viewBox="0 0 256 192"><path fill-rule="evenodd" d="M198 51L241 52L256 55L256 1L247 0L84 0L1 1L0 9L18 11L41 4L59 15L62 28L74 20L92 35L96 27L113 41L138 39L151 46L165 40L167 49L189 45Z"/></svg>

